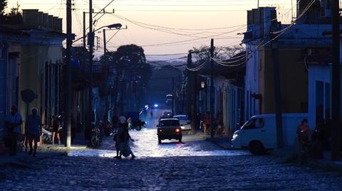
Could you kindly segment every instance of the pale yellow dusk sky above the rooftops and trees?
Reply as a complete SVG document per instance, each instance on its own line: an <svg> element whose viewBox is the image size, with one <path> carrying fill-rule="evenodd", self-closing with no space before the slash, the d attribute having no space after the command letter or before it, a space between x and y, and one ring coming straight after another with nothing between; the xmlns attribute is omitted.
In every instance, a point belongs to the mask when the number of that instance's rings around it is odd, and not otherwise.
<svg viewBox="0 0 342 191"><path fill-rule="evenodd" d="M111 0L94 0L94 11L100 11ZM295 0L260 0L259 6L276 6L278 18L282 23L291 21L291 1L295 15ZM16 6L9 0L8 9ZM66 0L41 1L19 0L20 9L39 9L53 16L63 18L63 31L66 29ZM73 33L80 38L83 28L83 11L88 11L88 0L72 1ZM160 56L187 53L192 47L209 45L214 38L215 46L238 45L241 33L246 30L247 10L257 8L257 0L115 0L105 11L113 12L95 18L94 28L110 23L122 23L127 30L107 31L108 50L115 50L119 45L137 44L145 49L148 58L162 60L183 55ZM95 13L93 14L95 16ZM94 18L94 20L95 20ZM87 14L88 27L88 14ZM101 30L102 31L102 30ZM95 55L103 53L103 34L96 34L100 47ZM113 36L113 38L111 38ZM111 39L110 39L111 38ZM178 43L177 43L178 42ZM81 40L74 45L81 44Z"/></svg>

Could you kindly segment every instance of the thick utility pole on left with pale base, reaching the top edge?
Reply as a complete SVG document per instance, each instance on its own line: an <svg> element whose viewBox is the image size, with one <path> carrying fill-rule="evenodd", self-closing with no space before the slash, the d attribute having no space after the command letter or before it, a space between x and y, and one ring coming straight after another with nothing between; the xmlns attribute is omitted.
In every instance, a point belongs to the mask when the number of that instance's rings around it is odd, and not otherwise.
<svg viewBox="0 0 342 191"><path fill-rule="evenodd" d="M65 146L71 146L71 46L73 45L73 34L71 33L71 0L66 1L66 142Z"/></svg>

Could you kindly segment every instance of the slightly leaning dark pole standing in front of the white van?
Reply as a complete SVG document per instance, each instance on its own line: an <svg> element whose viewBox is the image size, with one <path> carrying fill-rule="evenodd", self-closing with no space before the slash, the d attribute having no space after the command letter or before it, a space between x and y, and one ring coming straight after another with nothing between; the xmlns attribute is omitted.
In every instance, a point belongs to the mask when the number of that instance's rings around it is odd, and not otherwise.
<svg viewBox="0 0 342 191"><path fill-rule="evenodd" d="M284 148L283 122L281 116L281 83L279 72L279 50L278 42L275 38L271 43L273 57L273 77L274 77L274 101L276 106L276 143L278 148Z"/></svg>

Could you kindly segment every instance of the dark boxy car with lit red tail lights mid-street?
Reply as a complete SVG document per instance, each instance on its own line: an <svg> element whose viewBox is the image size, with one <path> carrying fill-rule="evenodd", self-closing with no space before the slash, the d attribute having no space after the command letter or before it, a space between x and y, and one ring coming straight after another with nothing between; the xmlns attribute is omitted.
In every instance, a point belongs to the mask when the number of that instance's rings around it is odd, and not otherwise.
<svg viewBox="0 0 342 191"><path fill-rule="evenodd" d="M182 128L178 119L160 119L157 125L158 143L165 139L176 139L182 143Z"/></svg>

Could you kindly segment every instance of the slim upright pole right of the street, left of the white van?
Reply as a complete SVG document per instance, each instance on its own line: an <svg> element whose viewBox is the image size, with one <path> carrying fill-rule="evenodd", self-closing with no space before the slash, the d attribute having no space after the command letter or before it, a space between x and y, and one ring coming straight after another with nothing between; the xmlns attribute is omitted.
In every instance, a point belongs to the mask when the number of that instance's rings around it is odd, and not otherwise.
<svg viewBox="0 0 342 191"><path fill-rule="evenodd" d="M210 41L210 57L214 58L214 39ZM214 60L210 59L210 136L214 137Z"/></svg>

